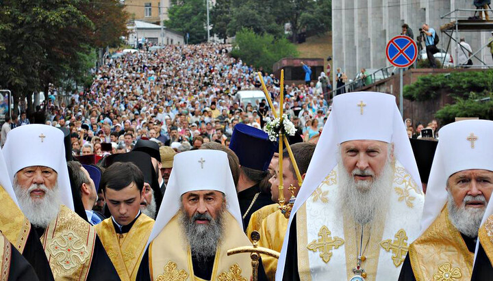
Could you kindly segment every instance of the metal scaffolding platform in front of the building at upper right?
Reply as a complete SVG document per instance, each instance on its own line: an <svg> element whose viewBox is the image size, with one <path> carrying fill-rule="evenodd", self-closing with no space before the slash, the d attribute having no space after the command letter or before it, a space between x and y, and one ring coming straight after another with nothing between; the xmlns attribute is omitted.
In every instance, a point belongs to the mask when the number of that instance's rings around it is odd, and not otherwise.
<svg viewBox="0 0 493 281"><path fill-rule="evenodd" d="M464 52L464 54L468 54L468 50L462 46L459 42L459 31L464 31L464 32L478 32L478 31L493 31L493 21L483 21L482 19L471 19L468 16L461 16L459 15L460 12L492 12L493 10L488 6L489 9L455 9L452 12L448 12L447 14L444 14L440 18L448 18L451 21L451 23L447 23L446 25L443 25L440 27L440 31L442 31L442 34L445 34L448 37L448 44L446 47L446 53L448 53L448 50L450 49L451 42L454 41L455 44L457 44L455 48L455 67L462 67L464 65L459 65L459 48L461 51ZM455 34L454 34L455 33ZM454 38L455 35L455 38ZM481 48L479 48L475 53L472 53L472 55L466 55L467 59L466 62L469 59L472 59L475 57L481 64L479 65L472 65L471 67L478 67L478 68L493 68L493 65L488 65L486 64L483 59L481 59L481 55L478 57L477 54L481 52L483 49L485 49L486 46L488 46L490 40ZM445 60L445 56L444 56ZM443 62L442 62L443 64Z"/></svg>

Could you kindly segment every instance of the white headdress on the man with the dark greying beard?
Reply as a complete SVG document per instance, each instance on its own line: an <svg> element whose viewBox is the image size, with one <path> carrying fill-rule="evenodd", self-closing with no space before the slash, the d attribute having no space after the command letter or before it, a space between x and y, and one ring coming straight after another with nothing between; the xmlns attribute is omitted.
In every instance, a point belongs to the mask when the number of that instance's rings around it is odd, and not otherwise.
<svg viewBox="0 0 493 281"><path fill-rule="evenodd" d="M147 241L153 241L180 209L181 196L189 191L215 190L225 194L227 210L242 227L240 203L229 169L227 153L219 150L190 150L175 155L166 192Z"/></svg>

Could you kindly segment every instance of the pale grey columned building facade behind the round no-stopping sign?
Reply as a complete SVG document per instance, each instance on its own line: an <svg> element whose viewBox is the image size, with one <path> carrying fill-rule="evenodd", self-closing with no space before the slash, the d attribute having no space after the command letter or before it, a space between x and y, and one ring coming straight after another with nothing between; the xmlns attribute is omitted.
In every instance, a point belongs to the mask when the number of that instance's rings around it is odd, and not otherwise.
<svg viewBox="0 0 493 281"><path fill-rule="evenodd" d="M439 49L446 49L448 37L440 32L440 27L455 21L443 18L456 9L475 9L470 0L332 0L332 52L333 73L341 68L349 79L353 79L361 68L379 69L390 66L385 57L387 42L401 34L401 26L407 23L414 32L414 40L419 36L423 23L433 27L440 38ZM474 11L455 12L459 17L473 16ZM455 13L452 16L455 16ZM491 13L490 13L490 16ZM493 17L493 16L492 16ZM464 38L472 52L478 51L491 38L490 31L461 32L454 38ZM457 63L457 43L451 42L449 53ZM425 45L424 43L422 44ZM483 62L492 65L488 48L477 55ZM472 59L473 63L481 64ZM334 84L335 78L333 77Z"/></svg>

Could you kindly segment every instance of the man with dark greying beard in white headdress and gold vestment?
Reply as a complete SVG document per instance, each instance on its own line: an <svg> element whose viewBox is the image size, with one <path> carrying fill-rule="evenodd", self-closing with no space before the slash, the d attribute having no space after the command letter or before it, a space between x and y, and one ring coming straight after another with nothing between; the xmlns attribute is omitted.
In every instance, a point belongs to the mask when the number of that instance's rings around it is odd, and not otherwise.
<svg viewBox="0 0 493 281"><path fill-rule="evenodd" d="M137 280L251 280L249 254L227 256L227 250L251 243L226 152L177 154L163 206Z"/></svg>

